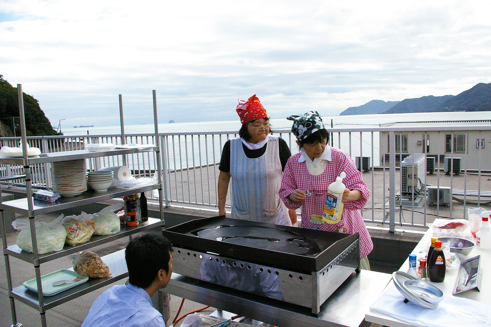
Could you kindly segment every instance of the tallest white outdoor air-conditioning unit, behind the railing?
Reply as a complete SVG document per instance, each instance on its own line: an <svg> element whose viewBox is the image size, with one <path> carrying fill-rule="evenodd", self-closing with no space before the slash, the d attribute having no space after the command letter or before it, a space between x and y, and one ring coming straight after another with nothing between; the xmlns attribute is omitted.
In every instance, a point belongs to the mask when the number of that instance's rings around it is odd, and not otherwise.
<svg viewBox="0 0 491 327"><path fill-rule="evenodd" d="M413 189L414 193L420 189L418 188L418 178L420 181L423 181L423 176L425 174L424 164L424 153L413 153L404 158L401 163L401 194L409 195L412 194Z"/></svg>

